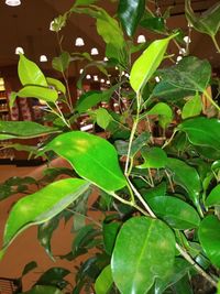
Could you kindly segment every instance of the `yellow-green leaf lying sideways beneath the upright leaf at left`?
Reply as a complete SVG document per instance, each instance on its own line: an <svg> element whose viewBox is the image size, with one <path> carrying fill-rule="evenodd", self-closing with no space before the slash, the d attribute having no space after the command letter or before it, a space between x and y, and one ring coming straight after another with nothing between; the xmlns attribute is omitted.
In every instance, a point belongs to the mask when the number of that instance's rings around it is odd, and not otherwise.
<svg viewBox="0 0 220 294"><path fill-rule="evenodd" d="M43 88L37 86L26 86L10 97L10 107L13 106L16 97L20 98L37 98L47 102L53 102L58 99L58 92L54 89Z"/></svg>

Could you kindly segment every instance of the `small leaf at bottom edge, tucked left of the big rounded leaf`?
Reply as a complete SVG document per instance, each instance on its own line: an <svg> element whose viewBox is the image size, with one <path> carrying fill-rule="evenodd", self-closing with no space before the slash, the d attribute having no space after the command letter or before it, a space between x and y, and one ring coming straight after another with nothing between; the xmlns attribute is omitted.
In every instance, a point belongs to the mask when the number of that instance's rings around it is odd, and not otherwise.
<svg viewBox="0 0 220 294"><path fill-rule="evenodd" d="M111 290L112 284L113 284L113 279L111 274L111 266L107 265L96 280L95 283L96 294L108 294L109 291Z"/></svg>

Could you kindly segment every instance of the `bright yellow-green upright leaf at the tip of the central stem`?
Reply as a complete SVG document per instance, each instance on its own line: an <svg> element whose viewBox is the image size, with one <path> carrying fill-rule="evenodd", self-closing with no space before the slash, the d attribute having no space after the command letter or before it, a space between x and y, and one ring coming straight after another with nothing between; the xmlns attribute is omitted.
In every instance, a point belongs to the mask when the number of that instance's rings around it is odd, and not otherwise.
<svg viewBox="0 0 220 294"><path fill-rule="evenodd" d="M140 91L153 76L163 61L168 43L173 37L174 35L152 42L134 62L130 74L130 84L134 91Z"/></svg>

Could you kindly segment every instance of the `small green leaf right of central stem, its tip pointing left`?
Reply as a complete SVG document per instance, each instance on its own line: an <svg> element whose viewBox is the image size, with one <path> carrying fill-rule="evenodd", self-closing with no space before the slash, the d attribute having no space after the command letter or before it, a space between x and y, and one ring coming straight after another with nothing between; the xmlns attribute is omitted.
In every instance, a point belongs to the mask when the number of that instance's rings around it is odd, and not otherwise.
<svg viewBox="0 0 220 294"><path fill-rule="evenodd" d="M164 168L167 163L167 155L161 148L144 149L142 151L144 163L139 168Z"/></svg>

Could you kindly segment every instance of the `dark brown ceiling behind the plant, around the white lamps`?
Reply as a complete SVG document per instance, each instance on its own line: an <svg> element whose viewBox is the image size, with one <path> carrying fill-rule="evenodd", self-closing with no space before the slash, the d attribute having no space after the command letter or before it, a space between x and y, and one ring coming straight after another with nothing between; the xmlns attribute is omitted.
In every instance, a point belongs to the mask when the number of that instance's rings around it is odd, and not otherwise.
<svg viewBox="0 0 220 294"><path fill-rule="evenodd" d="M21 0L20 7L8 7L2 0L0 2L0 67L15 65L18 56L14 54L16 45L22 45L25 55L38 62L41 54L46 54L48 62L41 64L43 68L51 68L52 57L57 55L59 50L56 34L50 31L51 21L58 14L68 10L73 0ZM152 2L152 0L148 2ZM191 0L195 11L205 11L216 0ZM100 0L99 4L107 8L110 13L116 12L116 3L110 0ZM184 15L184 0L157 0L162 12L172 6L172 18L168 21L170 28L182 28L187 33L187 23ZM156 9L152 4L153 9ZM141 31L140 31L141 32ZM95 21L86 15L73 15L67 26L62 31L64 35L63 47L69 52L76 52L74 42L77 36L82 36L86 46L82 51L90 52L96 46L99 48L99 58L103 58L103 43L96 33ZM146 37L151 34L145 32ZM190 52L199 57L207 57L220 68L220 54L216 53L209 36L193 31L193 43ZM219 37L218 37L219 40ZM220 40L219 40L220 41Z"/></svg>

